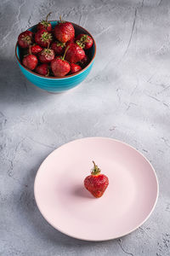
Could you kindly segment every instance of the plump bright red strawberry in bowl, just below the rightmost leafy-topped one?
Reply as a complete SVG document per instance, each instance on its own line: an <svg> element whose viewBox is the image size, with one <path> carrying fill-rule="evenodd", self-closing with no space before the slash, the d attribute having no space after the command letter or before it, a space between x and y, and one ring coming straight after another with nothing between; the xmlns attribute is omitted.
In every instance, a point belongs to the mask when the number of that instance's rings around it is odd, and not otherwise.
<svg viewBox="0 0 170 256"><path fill-rule="evenodd" d="M71 43L69 44L69 49L66 52L65 60L71 63L77 63L78 61L82 61L84 56L84 50L77 44Z"/></svg>

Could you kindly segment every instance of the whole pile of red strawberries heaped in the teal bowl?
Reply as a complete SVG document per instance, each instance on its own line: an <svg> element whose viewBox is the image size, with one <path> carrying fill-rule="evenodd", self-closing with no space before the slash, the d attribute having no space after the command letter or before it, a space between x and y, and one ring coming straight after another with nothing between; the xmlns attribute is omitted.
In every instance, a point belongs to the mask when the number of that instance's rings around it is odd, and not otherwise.
<svg viewBox="0 0 170 256"><path fill-rule="evenodd" d="M94 41L88 34L75 38L74 26L61 18L53 29L47 16L37 24L37 32L20 33L18 44L25 67L43 76L63 77L88 65Z"/></svg>

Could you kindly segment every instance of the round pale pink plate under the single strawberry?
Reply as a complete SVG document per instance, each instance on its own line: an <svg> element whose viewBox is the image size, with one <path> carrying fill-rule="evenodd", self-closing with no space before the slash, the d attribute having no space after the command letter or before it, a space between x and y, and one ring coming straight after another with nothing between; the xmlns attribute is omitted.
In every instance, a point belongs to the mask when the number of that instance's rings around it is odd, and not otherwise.
<svg viewBox="0 0 170 256"><path fill-rule="evenodd" d="M92 160L109 177L99 199L83 186ZM57 230L82 240L125 236L149 218L158 182L149 161L135 148L106 137L87 137L54 150L34 184L37 206Z"/></svg>

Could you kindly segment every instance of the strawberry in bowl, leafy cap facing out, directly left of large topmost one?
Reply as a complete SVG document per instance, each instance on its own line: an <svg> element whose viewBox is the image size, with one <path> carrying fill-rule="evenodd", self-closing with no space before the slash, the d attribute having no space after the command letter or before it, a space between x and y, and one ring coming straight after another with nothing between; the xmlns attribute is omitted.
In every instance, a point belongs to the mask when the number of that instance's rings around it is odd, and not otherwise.
<svg viewBox="0 0 170 256"><path fill-rule="evenodd" d="M48 44L52 42L52 34L48 33L46 29L38 30L35 34L35 41L42 47L48 47Z"/></svg>

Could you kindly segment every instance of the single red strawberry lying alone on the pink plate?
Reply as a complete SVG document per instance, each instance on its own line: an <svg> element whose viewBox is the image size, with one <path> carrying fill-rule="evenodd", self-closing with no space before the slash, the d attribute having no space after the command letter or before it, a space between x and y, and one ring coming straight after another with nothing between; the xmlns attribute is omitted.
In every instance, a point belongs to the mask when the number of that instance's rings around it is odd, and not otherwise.
<svg viewBox="0 0 170 256"><path fill-rule="evenodd" d="M94 169L92 170L91 175L84 179L85 188L96 198L102 196L109 185L108 177L104 174L100 174L100 172L100 169L94 163Z"/></svg>

